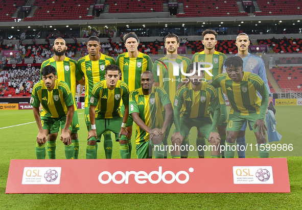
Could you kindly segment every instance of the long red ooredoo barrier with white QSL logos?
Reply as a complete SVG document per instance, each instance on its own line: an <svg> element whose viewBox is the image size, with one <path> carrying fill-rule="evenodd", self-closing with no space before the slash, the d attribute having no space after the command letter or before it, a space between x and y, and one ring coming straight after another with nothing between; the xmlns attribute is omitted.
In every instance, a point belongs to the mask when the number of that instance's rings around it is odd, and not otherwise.
<svg viewBox="0 0 302 210"><path fill-rule="evenodd" d="M286 158L11 160L6 193L290 193L290 185Z"/></svg>

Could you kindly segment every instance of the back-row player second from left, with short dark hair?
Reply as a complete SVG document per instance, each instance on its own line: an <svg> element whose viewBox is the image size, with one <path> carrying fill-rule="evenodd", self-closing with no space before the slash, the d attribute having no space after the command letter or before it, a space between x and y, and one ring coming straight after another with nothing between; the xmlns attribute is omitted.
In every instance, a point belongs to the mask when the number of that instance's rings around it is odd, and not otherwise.
<svg viewBox="0 0 302 210"><path fill-rule="evenodd" d="M115 64L112 57L100 52L100 48L100 39L96 36L90 36L87 40L89 54L78 61L79 71L82 76L85 76L85 122L88 130L90 126L88 96L96 83L105 80L105 67ZM106 159L111 159L113 145L111 133L107 131L103 135ZM97 151L98 144L96 144L96 158Z"/></svg>

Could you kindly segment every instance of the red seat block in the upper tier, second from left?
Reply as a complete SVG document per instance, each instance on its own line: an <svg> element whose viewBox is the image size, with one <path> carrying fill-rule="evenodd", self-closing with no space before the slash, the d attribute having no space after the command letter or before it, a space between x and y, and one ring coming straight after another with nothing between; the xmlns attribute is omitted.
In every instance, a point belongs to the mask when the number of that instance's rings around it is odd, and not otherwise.
<svg viewBox="0 0 302 210"><path fill-rule="evenodd" d="M94 16L87 16L87 12L94 3L96 1L36 0L33 6L38 8L34 17L26 17L24 21L93 19Z"/></svg>

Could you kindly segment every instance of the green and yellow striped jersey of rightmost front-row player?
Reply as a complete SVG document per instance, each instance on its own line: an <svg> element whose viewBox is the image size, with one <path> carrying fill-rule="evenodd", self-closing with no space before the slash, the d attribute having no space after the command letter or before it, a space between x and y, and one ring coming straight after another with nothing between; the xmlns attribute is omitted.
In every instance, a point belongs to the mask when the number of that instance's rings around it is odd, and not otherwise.
<svg viewBox="0 0 302 210"><path fill-rule="evenodd" d="M264 119L268 105L269 94L260 76L250 72L243 72L242 81L233 82L227 73L215 77L212 85L221 87L230 103L230 114L234 112L240 115L259 115ZM257 95L262 95L262 100Z"/></svg>

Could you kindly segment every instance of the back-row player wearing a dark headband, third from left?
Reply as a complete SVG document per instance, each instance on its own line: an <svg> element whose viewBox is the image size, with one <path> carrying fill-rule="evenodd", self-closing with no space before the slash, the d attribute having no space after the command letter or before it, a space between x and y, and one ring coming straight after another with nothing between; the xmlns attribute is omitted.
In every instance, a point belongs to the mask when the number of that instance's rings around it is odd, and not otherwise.
<svg viewBox="0 0 302 210"><path fill-rule="evenodd" d="M138 51L137 47L140 42L138 41L135 33L131 32L124 35L124 42L127 48L127 52L120 54L117 58L117 65L120 66L122 71L122 81L124 81L129 88L129 91L141 88L141 74L144 71L152 71L153 63L151 58ZM121 111L124 113L124 106L121 106ZM130 115L126 123L126 129L128 131L128 147L131 157L132 151L132 125L133 120Z"/></svg>

